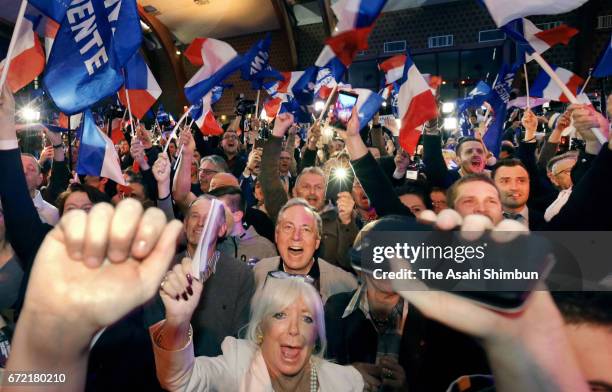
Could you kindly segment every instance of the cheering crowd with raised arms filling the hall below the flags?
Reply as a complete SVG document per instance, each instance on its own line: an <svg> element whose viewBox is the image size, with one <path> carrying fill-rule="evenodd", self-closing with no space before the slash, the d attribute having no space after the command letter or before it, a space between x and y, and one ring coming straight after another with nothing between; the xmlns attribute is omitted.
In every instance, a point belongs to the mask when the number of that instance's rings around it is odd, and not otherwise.
<svg viewBox="0 0 612 392"><path fill-rule="evenodd" d="M356 112L334 136L317 122L301 137L289 113L269 132L237 115L221 136L184 126L169 142L126 126L116 147L127 185L71 173L58 133L45 133L38 158L21 153L14 113L5 89L5 376L63 373L57 390L91 391L612 388L610 276L601 291L535 291L508 315L398 292L350 256L368 232L421 224L610 230L612 144L591 130L609 123L592 106L513 113L499 159L476 113L474 137L429 121L414 156L397 147L395 121L360 129ZM203 230L213 235L202 250Z"/></svg>

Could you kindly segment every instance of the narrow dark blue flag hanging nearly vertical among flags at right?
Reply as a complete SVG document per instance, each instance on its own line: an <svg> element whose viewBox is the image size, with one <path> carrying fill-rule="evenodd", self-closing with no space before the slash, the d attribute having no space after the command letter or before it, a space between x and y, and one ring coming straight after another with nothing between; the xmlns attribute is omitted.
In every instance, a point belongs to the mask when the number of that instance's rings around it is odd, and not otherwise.
<svg viewBox="0 0 612 392"><path fill-rule="evenodd" d="M510 91L512 90L512 82L514 75L521 66L521 62L515 63L513 66L503 64L497 76L497 83L491 89L491 92L486 98L493 110L493 121L483 137L483 141L487 149L498 156L501 148L501 140L504 135L504 122L506 121L506 105L510 100Z"/></svg>

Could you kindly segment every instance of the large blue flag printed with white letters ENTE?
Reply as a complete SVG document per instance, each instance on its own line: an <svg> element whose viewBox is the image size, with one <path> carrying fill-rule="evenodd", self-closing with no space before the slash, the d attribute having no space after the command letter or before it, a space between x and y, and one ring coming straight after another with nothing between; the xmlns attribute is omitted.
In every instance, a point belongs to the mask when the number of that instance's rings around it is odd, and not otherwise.
<svg viewBox="0 0 612 392"><path fill-rule="evenodd" d="M142 40L135 0L86 1L68 8L43 78L55 105L75 114L123 84L121 67Z"/></svg>

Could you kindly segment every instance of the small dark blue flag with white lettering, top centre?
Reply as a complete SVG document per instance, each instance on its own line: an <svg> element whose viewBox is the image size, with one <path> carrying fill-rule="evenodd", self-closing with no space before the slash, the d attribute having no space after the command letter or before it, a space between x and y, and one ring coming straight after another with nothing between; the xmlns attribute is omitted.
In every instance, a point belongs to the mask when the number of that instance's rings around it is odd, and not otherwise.
<svg viewBox="0 0 612 392"><path fill-rule="evenodd" d="M270 33L251 47L243 56L240 68L242 79L251 81L251 88L259 90L266 79L282 80L283 75L270 66Z"/></svg>

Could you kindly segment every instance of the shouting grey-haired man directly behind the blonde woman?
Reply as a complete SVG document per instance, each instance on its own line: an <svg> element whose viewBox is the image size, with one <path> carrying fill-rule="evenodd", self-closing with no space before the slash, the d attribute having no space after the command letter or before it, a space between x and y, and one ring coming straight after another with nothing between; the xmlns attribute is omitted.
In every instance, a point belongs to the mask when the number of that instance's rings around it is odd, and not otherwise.
<svg viewBox="0 0 612 392"><path fill-rule="evenodd" d="M263 259L255 265L256 285L263 285L268 273L278 270L310 276L324 303L334 294L355 290L357 280L352 274L315 255L321 244L321 230L321 217L308 202L290 199L278 214L274 232L280 257Z"/></svg>

